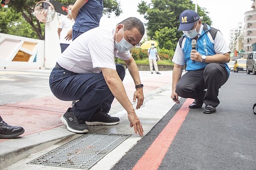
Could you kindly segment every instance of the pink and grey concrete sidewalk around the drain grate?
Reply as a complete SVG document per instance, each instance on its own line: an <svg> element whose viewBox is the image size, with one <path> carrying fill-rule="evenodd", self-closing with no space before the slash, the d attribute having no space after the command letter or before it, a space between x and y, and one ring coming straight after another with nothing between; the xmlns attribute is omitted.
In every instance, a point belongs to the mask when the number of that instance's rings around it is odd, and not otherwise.
<svg viewBox="0 0 256 170"><path fill-rule="evenodd" d="M16 139L0 139L0 169L8 169L9 165L49 149L61 141L69 142L81 136L68 131L66 126L61 123L60 117L67 108L71 107L71 102L60 101L51 94L48 85L49 73L50 70L0 70L2 85L0 115L8 124L22 126L25 129L25 133ZM158 75L151 74L149 71L140 71L145 100L143 107L136 113L143 124L144 135L175 104L170 99L172 71L162 71L161 73ZM128 71L126 71L123 83L128 97L132 101L135 88ZM134 108L136 104L137 102L133 103ZM140 140L140 136L134 134L133 128L128 128L127 113L116 100L112 104L110 115L118 116L121 119L119 125L89 126L89 133L133 134L135 143L130 142L130 147ZM121 157L122 154L124 153L120 153ZM30 159L33 159L32 157ZM108 156L105 157L107 159ZM16 166L20 167L21 165ZM29 169L25 165L23 166L24 169ZM109 166L111 168L112 165ZM29 167L34 168L31 165ZM10 169L13 168L15 165L10 167ZM97 167L96 164L93 168L100 167Z"/></svg>

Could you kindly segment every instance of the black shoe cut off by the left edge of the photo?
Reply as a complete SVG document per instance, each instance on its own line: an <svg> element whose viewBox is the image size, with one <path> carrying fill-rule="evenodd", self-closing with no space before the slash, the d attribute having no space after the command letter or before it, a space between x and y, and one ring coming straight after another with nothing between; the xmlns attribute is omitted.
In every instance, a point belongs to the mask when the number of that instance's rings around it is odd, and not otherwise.
<svg viewBox="0 0 256 170"><path fill-rule="evenodd" d="M25 130L20 126L8 125L3 120L0 122L0 139L11 139L23 134Z"/></svg>

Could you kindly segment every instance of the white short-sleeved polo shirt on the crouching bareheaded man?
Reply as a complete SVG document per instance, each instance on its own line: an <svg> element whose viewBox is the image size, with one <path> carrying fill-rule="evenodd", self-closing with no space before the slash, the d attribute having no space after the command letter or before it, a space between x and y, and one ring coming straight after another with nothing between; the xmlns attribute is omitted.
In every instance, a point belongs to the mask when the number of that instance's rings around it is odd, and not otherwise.
<svg viewBox="0 0 256 170"><path fill-rule="evenodd" d="M115 49L115 29L96 27L77 37L61 54L57 62L61 67L79 74L100 73L100 68L116 70L114 57L131 58L130 51Z"/></svg>

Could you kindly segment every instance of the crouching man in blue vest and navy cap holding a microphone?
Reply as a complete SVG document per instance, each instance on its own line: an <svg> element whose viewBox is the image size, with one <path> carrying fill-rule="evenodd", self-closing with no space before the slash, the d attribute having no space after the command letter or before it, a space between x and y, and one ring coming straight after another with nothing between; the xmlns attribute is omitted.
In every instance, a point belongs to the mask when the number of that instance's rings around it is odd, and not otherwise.
<svg viewBox="0 0 256 170"><path fill-rule="evenodd" d="M219 88L230 75L226 64L230 61L230 49L221 32L202 24L195 11L183 11L179 20L178 31L184 34L172 59L175 65L171 98L177 103L178 96L195 99L189 108L202 108L205 104L204 113L215 113L220 103ZM187 72L181 77L185 63Z"/></svg>

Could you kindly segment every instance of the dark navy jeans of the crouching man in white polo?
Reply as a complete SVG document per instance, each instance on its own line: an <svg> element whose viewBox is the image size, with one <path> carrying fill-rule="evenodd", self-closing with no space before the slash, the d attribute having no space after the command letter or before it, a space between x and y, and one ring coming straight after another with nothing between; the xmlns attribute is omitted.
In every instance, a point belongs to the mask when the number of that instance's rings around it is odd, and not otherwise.
<svg viewBox="0 0 256 170"><path fill-rule="evenodd" d="M116 64L116 72L121 80L125 78L122 65ZM114 99L102 73L77 74L58 66L50 74L49 85L58 99L79 100L72 110L84 121L90 120L97 109L108 113Z"/></svg>

